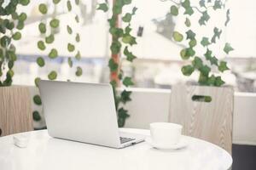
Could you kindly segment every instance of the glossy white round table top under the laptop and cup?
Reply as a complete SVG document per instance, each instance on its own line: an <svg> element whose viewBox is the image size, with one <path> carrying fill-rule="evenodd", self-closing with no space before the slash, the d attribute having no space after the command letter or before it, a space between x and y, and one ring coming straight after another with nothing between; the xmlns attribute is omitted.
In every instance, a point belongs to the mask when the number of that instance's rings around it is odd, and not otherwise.
<svg viewBox="0 0 256 170"><path fill-rule="evenodd" d="M149 135L148 130L121 131ZM17 134L14 134L17 135ZM0 138L1 170L224 170L232 157L215 144L184 136L181 150L157 150L146 142L112 149L49 137L47 130L26 133L26 148L13 144L13 136Z"/></svg>

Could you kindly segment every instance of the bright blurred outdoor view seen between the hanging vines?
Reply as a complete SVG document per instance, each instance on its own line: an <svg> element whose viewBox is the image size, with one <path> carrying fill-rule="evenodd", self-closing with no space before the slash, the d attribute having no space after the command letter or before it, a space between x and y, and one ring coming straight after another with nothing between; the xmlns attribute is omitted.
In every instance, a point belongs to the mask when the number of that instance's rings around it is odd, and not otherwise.
<svg viewBox="0 0 256 170"><path fill-rule="evenodd" d="M137 45L132 48L137 59L132 62L122 61L125 75L134 78L137 88L172 88L172 84L183 81L196 82L196 73L191 77L184 77L180 71L185 61L180 58L179 51L183 44L177 44L172 40L172 32L179 26L179 18L172 18L168 14L172 2L134 0L132 3L138 8L136 17L132 19L133 33L137 35ZM26 26L22 31L22 37L16 42L18 60L15 63L14 84L34 85L36 77L47 78L49 71L58 72L58 80L67 79L78 82L109 82L108 59L110 57L110 40L108 33L108 13L96 10L96 0L81 0L77 14L80 16L79 24L72 23L72 13L67 13L61 5L56 10L56 15L61 20L60 30L55 36L54 46L59 49L60 57L50 60L44 52L37 48L40 38L38 23L41 20L38 12L38 3L47 0L31 1L27 7L20 8L28 14ZM239 92L256 92L256 1L247 0L230 1L230 23L224 29L222 41L231 42L235 48L229 56L218 54L218 59L228 62L230 71L226 71L223 79L227 84L233 85ZM50 3L49 3L50 4ZM66 5L66 4L63 4ZM127 10L130 10L127 8ZM218 24L218 16L213 25ZM65 22L63 22L65 20ZM76 45L81 53L81 60L73 61L73 68L67 64L70 53L66 45L68 35L66 24L71 22L75 31L80 32L81 42ZM65 26L64 26L65 24ZM74 26L77 25L77 26ZM179 28L182 29L182 28ZM64 31L62 31L64 30ZM199 30L200 31L200 30ZM204 32L207 34L207 32ZM160 44L160 45L159 45ZM216 47L219 48L219 47ZM222 51L220 49L219 51ZM47 63L43 68L38 67L36 59L42 56ZM50 60L50 62L49 62ZM83 69L81 77L75 76L75 67L79 65Z"/></svg>

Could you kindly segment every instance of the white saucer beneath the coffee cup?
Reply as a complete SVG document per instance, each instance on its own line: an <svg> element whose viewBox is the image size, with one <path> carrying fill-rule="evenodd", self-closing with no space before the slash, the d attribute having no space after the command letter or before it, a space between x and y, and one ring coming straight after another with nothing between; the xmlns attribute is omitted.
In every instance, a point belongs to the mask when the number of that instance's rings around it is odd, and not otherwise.
<svg viewBox="0 0 256 170"><path fill-rule="evenodd" d="M182 149L182 148L184 148L188 145L187 141L185 141L183 138L180 139L179 143L172 144L172 145L169 145L169 146L160 146L160 145L154 144L154 142L152 141L152 139L150 137L145 139L145 141L148 144L150 144L152 147L154 147L156 149L159 149L159 150L179 150L179 149Z"/></svg>

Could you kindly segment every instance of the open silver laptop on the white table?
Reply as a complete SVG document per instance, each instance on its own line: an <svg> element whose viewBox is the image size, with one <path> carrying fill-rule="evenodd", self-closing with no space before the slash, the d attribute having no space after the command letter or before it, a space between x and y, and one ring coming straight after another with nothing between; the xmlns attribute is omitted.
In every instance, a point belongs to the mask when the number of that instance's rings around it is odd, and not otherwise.
<svg viewBox="0 0 256 170"><path fill-rule="evenodd" d="M110 84L41 80L38 86L50 136L112 148L143 142L119 131Z"/></svg>

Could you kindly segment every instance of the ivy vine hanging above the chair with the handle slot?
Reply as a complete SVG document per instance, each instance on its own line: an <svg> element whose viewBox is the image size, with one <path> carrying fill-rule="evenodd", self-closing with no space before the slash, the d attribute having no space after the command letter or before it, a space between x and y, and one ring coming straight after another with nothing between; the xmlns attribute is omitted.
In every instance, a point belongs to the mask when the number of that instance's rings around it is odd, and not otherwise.
<svg viewBox="0 0 256 170"><path fill-rule="evenodd" d="M186 40L184 40L185 36L183 36L183 34L178 31L174 31L172 35L176 42L188 42L188 48L183 48L180 52L180 55L184 60L192 59L192 62L191 65L184 65L182 67L183 75L190 76L194 71L199 71L200 77L198 82L201 85L216 87L222 86L224 81L220 76L215 76L213 73L211 73L211 67L217 66L218 71L220 72L227 71L229 68L227 66L227 62L224 60L219 61L213 54L213 51L210 49L214 43L218 43L218 39L221 37L222 30L218 27L214 27L212 30L212 37L205 36L199 39L196 37L195 31L192 31L192 29L189 29L189 27L192 24L195 24L190 22L190 18L196 12L201 14L201 17L198 20L198 24L200 26L207 26L207 22L211 18L208 14L210 9L213 9L215 12L217 12L218 9L226 10L226 20L223 26L227 26L230 21L230 9L225 9L225 3L223 3L221 0L200 0L199 7L192 6L190 0L184 0L180 2L173 0L171 1L172 3L175 3L175 5L172 5L171 7L172 16L177 16L183 10L183 15L186 16L186 19L184 20L184 26L188 28L186 31ZM200 42L200 44L198 42ZM204 57L208 63L204 63L201 57L197 56L198 54L195 52L196 45L201 45L201 47L205 49ZM230 43L226 42L223 50L225 54L229 54L230 51L234 49L230 46ZM211 67L209 65L211 65Z"/></svg>

